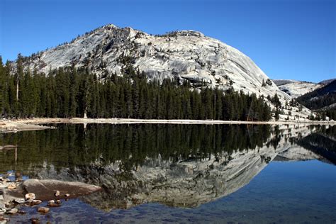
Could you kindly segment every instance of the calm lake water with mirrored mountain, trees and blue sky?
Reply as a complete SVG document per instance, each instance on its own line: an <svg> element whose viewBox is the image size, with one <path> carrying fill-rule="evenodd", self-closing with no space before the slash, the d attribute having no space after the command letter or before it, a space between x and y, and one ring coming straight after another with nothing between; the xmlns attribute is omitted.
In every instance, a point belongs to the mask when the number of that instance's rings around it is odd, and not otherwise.
<svg viewBox="0 0 336 224"><path fill-rule="evenodd" d="M18 145L0 173L103 187L13 223L336 223L336 126L60 124L0 144Z"/></svg>

